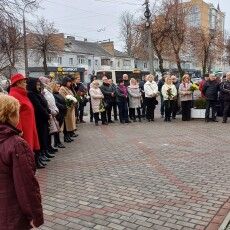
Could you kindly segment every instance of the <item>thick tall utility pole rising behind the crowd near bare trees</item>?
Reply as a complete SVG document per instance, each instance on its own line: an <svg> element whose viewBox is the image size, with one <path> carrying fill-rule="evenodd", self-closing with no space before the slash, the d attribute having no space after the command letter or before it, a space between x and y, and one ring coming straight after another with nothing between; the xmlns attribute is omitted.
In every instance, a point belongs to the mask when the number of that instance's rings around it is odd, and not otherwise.
<svg viewBox="0 0 230 230"><path fill-rule="evenodd" d="M151 12L149 9L149 0L145 0L145 13L144 16L146 18L145 27L148 30L148 53L149 53L149 72L150 74L154 73L153 68L153 48L152 48L152 31L151 31Z"/></svg>

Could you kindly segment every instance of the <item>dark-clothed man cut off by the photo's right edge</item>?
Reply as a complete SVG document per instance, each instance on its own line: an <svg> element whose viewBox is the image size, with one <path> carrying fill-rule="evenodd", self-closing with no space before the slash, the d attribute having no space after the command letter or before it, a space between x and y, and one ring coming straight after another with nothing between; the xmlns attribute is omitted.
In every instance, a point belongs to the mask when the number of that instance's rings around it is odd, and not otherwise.
<svg viewBox="0 0 230 230"><path fill-rule="evenodd" d="M224 112L222 123L227 123L230 110L230 72L226 74L226 81L221 84L221 93L224 100Z"/></svg>

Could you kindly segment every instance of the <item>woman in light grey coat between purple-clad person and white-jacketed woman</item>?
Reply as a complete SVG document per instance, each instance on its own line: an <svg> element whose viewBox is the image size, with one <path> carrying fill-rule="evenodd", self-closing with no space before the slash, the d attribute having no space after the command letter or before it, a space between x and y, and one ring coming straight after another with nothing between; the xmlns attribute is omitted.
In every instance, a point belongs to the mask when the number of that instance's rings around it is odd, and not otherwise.
<svg viewBox="0 0 230 230"><path fill-rule="evenodd" d="M130 79L130 85L128 86L128 94L129 94L129 116L136 122L136 114L135 110L137 110L137 116L139 122L141 122L141 91L136 79Z"/></svg>

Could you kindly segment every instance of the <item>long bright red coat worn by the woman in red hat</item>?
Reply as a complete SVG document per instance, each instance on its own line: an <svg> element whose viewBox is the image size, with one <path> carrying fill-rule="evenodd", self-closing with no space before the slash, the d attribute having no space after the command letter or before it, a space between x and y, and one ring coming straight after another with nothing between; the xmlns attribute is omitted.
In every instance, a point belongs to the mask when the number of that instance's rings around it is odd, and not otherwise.
<svg viewBox="0 0 230 230"><path fill-rule="evenodd" d="M10 95L20 102L20 121L17 126L23 132L22 138L27 141L32 150L39 150L39 140L35 122L34 107L30 102L26 90L19 87L12 87Z"/></svg>

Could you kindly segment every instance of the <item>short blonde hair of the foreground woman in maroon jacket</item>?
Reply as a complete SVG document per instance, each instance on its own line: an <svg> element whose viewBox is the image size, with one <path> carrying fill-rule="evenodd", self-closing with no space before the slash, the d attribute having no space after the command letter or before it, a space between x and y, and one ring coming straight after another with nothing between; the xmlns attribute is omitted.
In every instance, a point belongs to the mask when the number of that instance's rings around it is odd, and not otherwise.
<svg viewBox="0 0 230 230"><path fill-rule="evenodd" d="M0 93L0 122L6 123L9 118L16 115L19 112L19 101L9 95Z"/></svg>

